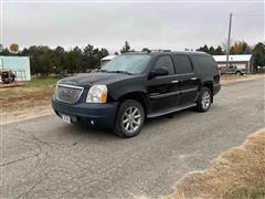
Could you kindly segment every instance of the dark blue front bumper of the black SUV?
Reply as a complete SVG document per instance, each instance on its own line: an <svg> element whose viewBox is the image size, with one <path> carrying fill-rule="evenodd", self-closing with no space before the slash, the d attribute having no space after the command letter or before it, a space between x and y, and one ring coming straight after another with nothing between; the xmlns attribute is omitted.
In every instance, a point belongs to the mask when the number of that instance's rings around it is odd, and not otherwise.
<svg viewBox="0 0 265 199"><path fill-rule="evenodd" d="M86 123L104 128L114 126L117 106L117 102L106 104L67 104L57 101L54 96L52 100L52 107L60 117L64 114L70 116L73 123Z"/></svg>

